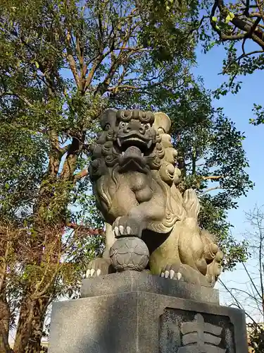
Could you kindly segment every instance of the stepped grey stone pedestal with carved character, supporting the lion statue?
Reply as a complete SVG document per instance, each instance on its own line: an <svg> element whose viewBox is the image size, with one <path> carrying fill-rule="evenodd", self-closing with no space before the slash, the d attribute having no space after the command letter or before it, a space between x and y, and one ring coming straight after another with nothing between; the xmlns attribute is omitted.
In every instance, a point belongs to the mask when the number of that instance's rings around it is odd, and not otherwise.
<svg viewBox="0 0 264 353"><path fill-rule="evenodd" d="M218 291L146 273L84 280L54 303L49 353L247 353L244 312Z"/></svg>

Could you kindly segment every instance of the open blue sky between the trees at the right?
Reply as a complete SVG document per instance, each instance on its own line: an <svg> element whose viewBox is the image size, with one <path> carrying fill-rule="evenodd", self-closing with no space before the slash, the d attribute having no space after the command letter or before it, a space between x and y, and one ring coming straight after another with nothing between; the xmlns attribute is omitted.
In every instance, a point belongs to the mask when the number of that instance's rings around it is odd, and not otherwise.
<svg viewBox="0 0 264 353"><path fill-rule="evenodd" d="M194 69L196 76L202 76L204 84L208 89L218 88L224 78L220 73L222 68L222 59L225 52L222 47L215 47L207 54L203 54L200 50L197 52L197 67ZM247 197L239 199L239 208L231 210L229 219L234 229L232 233L237 239L242 239L243 234L249 229L249 224L245 222L244 213L253 210L257 204L264 204L264 188L263 188L263 140L264 140L264 125L252 126L249 124L249 119L253 118L253 103L261 104L263 102L264 90L260 85L263 82L264 73L258 71L249 76L243 76L241 80L243 85L237 95L232 93L221 97L220 100L214 100L215 107L223 107L225 115L230 117L235 122L237 129L243 131L246 139L244 140L244 149L249 159L250 167L248 169L251 180L255 183L252 191L249 191ZM249 261L249 266L254 265L253 261ZM237 270L232 273L225 273L221 276L223 282L231 287L239 287L249 291L249 284L244 284L247 281L244 270L241 265L237 266ZM220 288L220 285L218 285ZM229 304L230 297L221 292L220 299L222 304ZM246 308L246 309L249 309ZM255 316L257 317L257 315Z"/></svg>

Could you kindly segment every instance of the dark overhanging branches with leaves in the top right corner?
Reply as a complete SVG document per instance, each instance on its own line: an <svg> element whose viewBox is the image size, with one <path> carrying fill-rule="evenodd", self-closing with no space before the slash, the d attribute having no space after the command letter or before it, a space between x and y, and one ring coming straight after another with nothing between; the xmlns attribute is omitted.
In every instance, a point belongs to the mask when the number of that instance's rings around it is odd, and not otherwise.
<svg viewBox="0 0 264 353"><path fill-rule="evenodd" d="M256 73L264 68L264 3L260 0L206 0L200 4L198 35L205 52L215 45L224 45L222 75L227 76L215 97L227 92L237 93L241 76ZM239 79L240 78L240 79ZM260 102L261 103L261 102ZM256 119L251 124L263 124L261 104L254 104Z"/></svg>

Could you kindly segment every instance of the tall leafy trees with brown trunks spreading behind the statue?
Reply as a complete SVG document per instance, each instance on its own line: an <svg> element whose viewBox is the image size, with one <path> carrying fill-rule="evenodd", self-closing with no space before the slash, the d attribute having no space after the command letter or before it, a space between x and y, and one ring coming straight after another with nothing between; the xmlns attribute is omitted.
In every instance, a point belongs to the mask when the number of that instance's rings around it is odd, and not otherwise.
<svg viewBox="0 0 264 353"><path fill-rule="evenodd" d="M231 251L226 212L251 182L243 136L213 110L210 95L189 73L197 3L0 2L4 352L10 352L8 330L17 316L14 351L39 352L49 304L76 297L89 259L103 250L103 224L86 177L89 144L105 107L159 109L172 117L182 189L204 193L201 224L217 228ZM194 160L205 164L194 167ZM212 172L223 191L215 196L206 192Z"/></svg>

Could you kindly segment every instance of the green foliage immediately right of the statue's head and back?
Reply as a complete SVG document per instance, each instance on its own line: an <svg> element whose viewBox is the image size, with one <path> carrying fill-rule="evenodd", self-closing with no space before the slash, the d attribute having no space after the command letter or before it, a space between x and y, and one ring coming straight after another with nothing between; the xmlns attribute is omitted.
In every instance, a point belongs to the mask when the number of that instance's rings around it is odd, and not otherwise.
<svg viewBox="0 0 264 353"><path fill-rule="evenodd" d="M201 227L218 237L226 268L231 269L245 260L246 244L234 241L227 211L237 208L237 198L253 187L245 172L249 164L242 147L244 135L222 109L211 107L206 92L189 94L191 104L183 99L179 107L171 106L170 113L183 176L180 187L196 189L202 205Z"/></svg>

